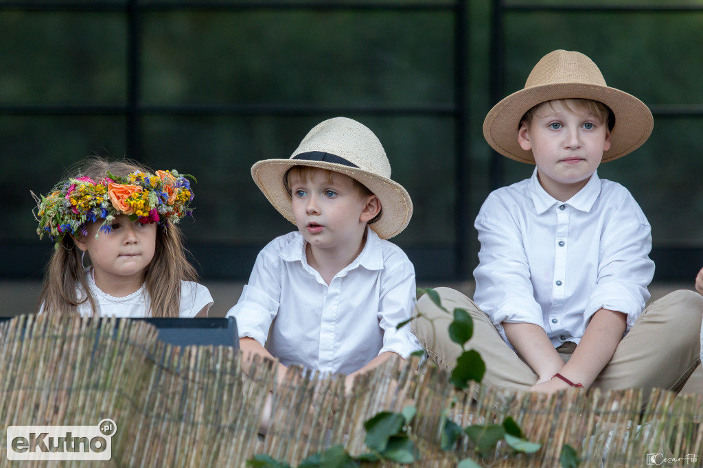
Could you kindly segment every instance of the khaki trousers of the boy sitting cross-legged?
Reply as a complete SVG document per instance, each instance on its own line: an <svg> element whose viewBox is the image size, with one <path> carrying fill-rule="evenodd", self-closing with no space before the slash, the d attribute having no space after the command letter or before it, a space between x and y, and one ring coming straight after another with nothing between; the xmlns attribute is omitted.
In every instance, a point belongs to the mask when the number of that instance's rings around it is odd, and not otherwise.
<svg viewBox="0 0 703 468"><path fill-rule="evenodd" d="M458 291L436 289L441 304L449 311L464 308L474 320L474 332L467 349L479 351L486 363L483 383L489 386L528 389L537 375L503 341L488 316ZM425 294L415 306L423 317L413 320L413 332L425 351L439 366L451 372L461 347L449 339L452 317ZM592 386L600 389L631 387L680 391L700 363L700 333L703 297L679 290L653 302L617 346L615 353ZM562 346L560 346L562 348ZM573 350L571 350L573 352ZM570 353L559 353L565 362Z"/></svg>

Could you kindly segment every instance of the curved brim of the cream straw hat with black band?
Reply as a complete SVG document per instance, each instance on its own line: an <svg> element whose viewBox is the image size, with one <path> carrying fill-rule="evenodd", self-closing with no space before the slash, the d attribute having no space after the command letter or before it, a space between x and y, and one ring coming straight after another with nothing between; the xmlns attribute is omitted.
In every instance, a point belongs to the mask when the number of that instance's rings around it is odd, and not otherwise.
<svg viewBox="0 0 703 468"><path fill-rule="evenodd" d="M288 191L285 190L283 177L288 169L293 166L318 167L339 172L354 178L359 183L362 183L363 186L366 186L381 202L381 216L373 223L370 223L369 226L382 239L389 239L401 233L408 226L411 216L413 216L413 202L407 190L399 183L378 174L357 167L325 161L278 159L263 160L255 163L252 166L254 182L264 193L266 199L273 204L273 207L291 223L295 224L295 217L291 207L292 199Z"/></svg>

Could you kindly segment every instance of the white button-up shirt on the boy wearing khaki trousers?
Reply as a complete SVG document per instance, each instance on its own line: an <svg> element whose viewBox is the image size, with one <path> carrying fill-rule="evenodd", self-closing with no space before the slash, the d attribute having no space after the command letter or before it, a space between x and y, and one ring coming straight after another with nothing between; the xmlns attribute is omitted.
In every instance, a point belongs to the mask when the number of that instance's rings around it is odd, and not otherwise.
<svg viewBox="0 0 703 468"><path fill-rule="evenodd" d="M650 298L650 224L623 186L598 174L562 203L535 169L491 193L475 226L474 301L506 342L502 322L539 325L555 347L579 343L600 308L626 313L629 330Z"/></svg>

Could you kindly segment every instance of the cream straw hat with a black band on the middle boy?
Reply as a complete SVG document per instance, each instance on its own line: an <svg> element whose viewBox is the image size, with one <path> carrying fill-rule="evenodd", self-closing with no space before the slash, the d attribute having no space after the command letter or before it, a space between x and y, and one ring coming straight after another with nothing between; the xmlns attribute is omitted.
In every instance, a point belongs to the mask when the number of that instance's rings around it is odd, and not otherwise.
<svg viewBox="0 0 703 468"><path fill-rule="evenodd" d="M288 160L263 160L252 166L252 178L273 207L295 223L291 197L283 178L293 166L311 166L346 174L362 183L381 202L380 217L369 226L382 239L408 226L413 202L399 183L390 179L391 165L381 142L366 126L335 117L314 126Z"/></svg>

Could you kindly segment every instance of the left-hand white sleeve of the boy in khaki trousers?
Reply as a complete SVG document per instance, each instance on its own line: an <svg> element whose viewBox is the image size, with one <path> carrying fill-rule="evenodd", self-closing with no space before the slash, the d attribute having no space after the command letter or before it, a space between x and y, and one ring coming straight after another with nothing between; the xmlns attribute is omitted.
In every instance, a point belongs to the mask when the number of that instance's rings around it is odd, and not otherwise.
<svg viewBox="0 0 703 468"><path fill-rule="evenodd" d="M486 212L506 212L505 207L497 204L489 197L475 222L481 249L479 266L474 271L474 301L498 331L502 330L503 322L543 327L520 227L507 214L500 219L486 217Z"/></svg>

